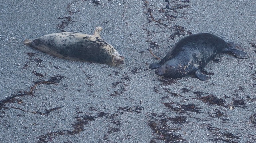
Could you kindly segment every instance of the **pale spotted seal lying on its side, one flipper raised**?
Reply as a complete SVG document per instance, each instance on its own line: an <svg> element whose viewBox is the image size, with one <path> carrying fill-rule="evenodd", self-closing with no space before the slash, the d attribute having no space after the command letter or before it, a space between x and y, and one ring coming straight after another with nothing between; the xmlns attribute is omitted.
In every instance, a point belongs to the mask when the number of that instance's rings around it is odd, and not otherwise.
<svg viewBox="0 0 256 143"><path fill-rule="evenodd" d="M124 64L124 57L100 37L101 27L96 27L93 35L81 33L53 33L24 44L47 54L70 60L80 60L109 65Z"/></svg>

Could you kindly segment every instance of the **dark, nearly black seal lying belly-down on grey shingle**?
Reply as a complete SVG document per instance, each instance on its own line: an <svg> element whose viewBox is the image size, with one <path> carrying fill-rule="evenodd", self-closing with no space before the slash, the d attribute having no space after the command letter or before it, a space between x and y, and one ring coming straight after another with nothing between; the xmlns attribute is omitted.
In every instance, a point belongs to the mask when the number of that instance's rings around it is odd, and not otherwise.
<svg viewBox="0 0 256 143"><path fill-rule="evenodd" d="M181 78L190 74L206 81L201 73L205 65L217 54L230 53L237 58L248 58L238 43L226 43L223 39L210 33L193 34L181 39L171 51L159 62L150 65L158 68L155 73L169 78Z"/></svg>

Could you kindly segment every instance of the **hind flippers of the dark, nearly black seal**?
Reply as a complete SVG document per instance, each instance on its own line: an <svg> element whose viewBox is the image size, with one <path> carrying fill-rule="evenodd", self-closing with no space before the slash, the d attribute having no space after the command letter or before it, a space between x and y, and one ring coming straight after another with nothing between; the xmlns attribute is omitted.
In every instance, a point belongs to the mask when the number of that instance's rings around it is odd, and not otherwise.
<svg viewBox="0 0 256 143"><path fill-rule="evenodd" d="M237 49L242 49L240 44L230 42L230 43L227 43L227 45L229 47L227 53L233 54L237 58L248 58L247 53L237 50Z"/></svg>

